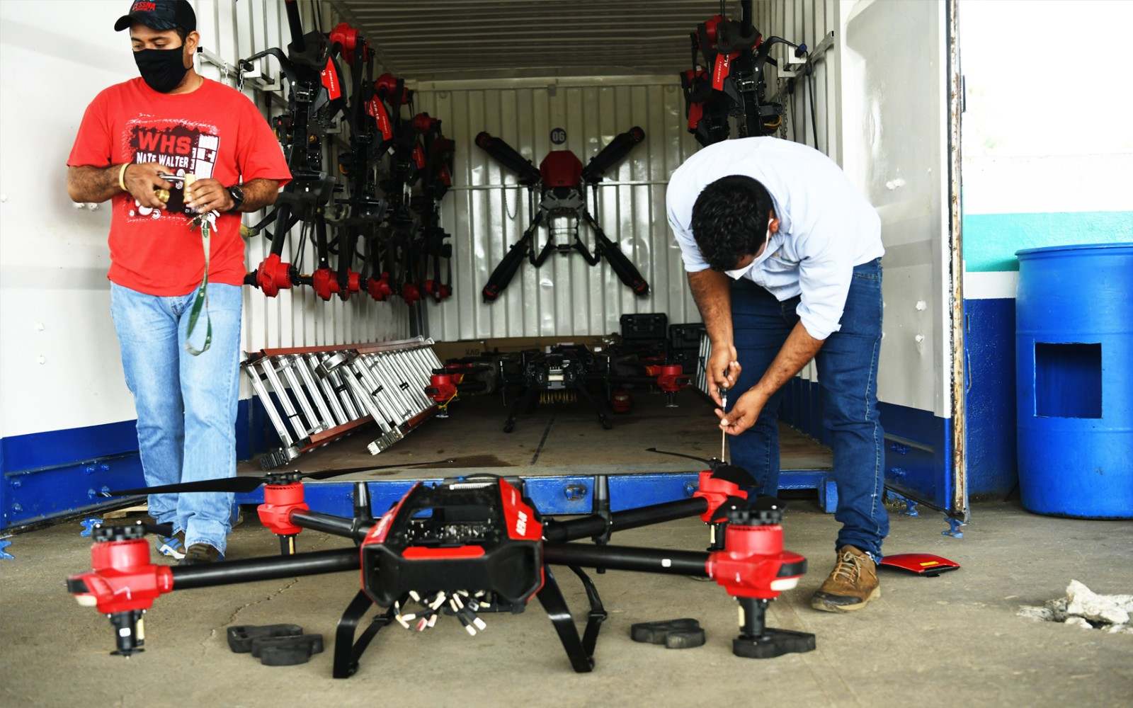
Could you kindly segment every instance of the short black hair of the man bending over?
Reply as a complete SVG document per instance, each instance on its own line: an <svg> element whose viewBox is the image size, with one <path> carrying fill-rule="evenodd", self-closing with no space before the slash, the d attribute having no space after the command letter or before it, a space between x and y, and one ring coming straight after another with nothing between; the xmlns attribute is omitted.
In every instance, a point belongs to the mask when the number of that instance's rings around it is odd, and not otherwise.
<svg viewBox="0 0 1133 708"><path fill-rule="evenodd" d="M742 174L722 177L701 189L690 225L708 267L729 271L743 256L759 253L774 207L767 188Z"/></svg>

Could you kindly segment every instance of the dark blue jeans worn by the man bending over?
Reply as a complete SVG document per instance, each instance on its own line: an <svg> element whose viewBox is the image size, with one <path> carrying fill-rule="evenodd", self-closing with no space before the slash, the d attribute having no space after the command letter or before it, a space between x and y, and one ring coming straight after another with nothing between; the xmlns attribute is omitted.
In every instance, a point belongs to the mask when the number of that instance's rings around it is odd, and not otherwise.
<svg viewBox="0 0 1133 708"><path fill-rule="evenodd" d="M787 334L799 322L799 298L780 302L748 280L732 283L732 327L739 352L740 379L747 391L767 370ZM835 548L850 545L881 558L881 539L889 532L883 503L885 446L877 412L877 356L881 348L880 258L854 267L841 329L818 351L823 425L834 446L834 480L842 523ZM733 406L739 395L729 396ZM778 491L778 408L782 390L770 398L759 420L731 441L732 461L759 483L760 494Z"/></svg>

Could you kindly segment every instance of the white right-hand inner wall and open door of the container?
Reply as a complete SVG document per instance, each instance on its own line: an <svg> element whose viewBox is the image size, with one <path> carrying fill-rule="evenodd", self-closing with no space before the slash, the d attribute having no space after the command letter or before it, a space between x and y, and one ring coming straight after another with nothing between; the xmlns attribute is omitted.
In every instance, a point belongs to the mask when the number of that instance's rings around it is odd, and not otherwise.
<svg viewBox="0 0 1133 708"><path fill-rule="evenodd" d="M834 159L881 215L879 400L951 417L943 5L769 0L755 24L809 48L834 32L813 89L796 85L785 103L786 137ZM817 367L801 375L817 381Z"/></svg>

